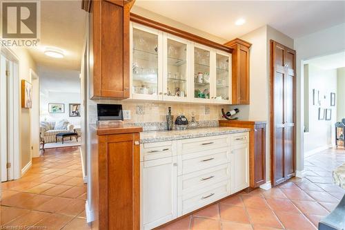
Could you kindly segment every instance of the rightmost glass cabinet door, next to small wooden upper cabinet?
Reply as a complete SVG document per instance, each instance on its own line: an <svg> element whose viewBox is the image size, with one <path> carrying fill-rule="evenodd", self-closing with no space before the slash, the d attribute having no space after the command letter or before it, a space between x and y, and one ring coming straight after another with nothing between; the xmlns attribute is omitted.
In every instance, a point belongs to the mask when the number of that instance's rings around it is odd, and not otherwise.
<svg viewBox="0 0 345 230"><path fill-rule="evenodd" d="M231 104L231 54L216 50L215 54L215 97L216 104Z"/></svg>

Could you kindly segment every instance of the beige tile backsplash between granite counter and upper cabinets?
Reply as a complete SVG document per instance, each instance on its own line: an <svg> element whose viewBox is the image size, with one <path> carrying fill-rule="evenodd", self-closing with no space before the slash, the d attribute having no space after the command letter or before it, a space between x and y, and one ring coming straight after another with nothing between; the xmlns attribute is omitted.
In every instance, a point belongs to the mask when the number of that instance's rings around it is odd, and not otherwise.
<svg viewBox="0 0 345 230"><path fill-rule="evenodd" d="M215 121L221 119L221 108L226 111L230 106L226 105L212 105L212 104L182 104L182 103L157 103L157 102L126 102L126 101L112 101L112 100L88 100L89 106L89 122L97 122L97 103L103 104L122 104L125 111L130 111L130 119L124 120L126 124L139 124L146 122L157 122L157 126L161 126L161 122L166 122L166 115L168 114L168 107L171 107L171 113L174 116L174 121L178 115L185 115L188 121L192 118L192 113L195 114L195 119L201 126L212 126L216 124ZM151 123L152 124L152 123ZM154 126L152 124L152 126Z"/></svg>

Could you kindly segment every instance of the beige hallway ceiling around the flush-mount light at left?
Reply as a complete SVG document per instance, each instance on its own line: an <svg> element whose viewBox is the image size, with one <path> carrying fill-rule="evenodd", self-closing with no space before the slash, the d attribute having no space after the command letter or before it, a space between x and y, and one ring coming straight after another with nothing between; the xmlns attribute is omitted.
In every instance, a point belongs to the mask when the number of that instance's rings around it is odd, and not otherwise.
<svg viewBox="0 0 345 230"><path fill-rule="evenodd" d="M41 41L29 50L37 65L80 70L86 15L81 1L41 1ZM47 46L63 50L65 57L44 55Z"/></svg>

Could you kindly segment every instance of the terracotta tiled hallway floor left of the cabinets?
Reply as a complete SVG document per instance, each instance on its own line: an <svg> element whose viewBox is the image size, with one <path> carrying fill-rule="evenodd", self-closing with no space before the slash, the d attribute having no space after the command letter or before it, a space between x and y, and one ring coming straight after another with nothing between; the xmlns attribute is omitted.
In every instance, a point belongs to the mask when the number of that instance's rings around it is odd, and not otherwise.
<svg viewBox="0 0 345 230"><path fill-rule="evenodd" d="M47 149L23 178L1 186L3 228L90 229L79 147Z"/></svg>

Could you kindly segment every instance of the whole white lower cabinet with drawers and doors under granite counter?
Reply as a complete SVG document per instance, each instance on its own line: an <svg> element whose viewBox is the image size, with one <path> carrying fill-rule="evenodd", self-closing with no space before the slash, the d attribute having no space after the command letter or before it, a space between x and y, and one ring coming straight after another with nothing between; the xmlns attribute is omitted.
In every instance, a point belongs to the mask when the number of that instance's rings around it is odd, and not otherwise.
<svg viewBox="0 0 345 230"><path fill-rule="evenodd" d="M141 229L249 186L248 133L141 144Z"/></svg>

